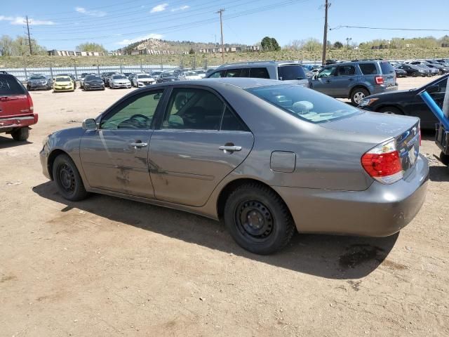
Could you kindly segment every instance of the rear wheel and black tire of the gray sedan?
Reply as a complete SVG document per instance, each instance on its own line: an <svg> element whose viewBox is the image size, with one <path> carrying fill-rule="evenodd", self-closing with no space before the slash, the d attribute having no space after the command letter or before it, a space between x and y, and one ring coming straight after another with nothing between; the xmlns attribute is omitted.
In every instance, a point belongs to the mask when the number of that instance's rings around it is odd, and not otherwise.
<svg viewBox="0 0 449 337"><path fill-rule="evenodd" d="M261 255L283 249L295 232L293 218L281 197L258 183L241 185L229 194L224 220L239 246Z"/></svg>

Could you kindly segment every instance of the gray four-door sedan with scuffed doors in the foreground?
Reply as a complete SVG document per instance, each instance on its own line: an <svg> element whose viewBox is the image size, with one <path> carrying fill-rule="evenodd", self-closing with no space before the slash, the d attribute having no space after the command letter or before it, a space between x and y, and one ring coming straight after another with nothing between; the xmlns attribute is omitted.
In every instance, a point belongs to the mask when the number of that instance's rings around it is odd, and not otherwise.
<svg viewBox="0 0 449 337"><path fill-rule="evenodd" d="M40 157L68 200L95 192L220 219L244 249L267 254L295 230L401 230L427 189L419 128L296 84L177 81L51 134Z"/></svg>

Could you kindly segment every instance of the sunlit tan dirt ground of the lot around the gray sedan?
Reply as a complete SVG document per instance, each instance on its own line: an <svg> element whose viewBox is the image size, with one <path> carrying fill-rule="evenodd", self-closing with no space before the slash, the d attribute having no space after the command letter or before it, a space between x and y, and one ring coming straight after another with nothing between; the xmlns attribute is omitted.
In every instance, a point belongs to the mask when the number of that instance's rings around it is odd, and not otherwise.
<svg viewBox="0 0 449 337"><path fill-rule="evenodd" d="M256 256L212 220L68 202L43 177L44 136L128 92L34 92L29 142L0 135L0 336L449 336L449 169L431 133L427 199L399 234L297 234Z"/></svg>

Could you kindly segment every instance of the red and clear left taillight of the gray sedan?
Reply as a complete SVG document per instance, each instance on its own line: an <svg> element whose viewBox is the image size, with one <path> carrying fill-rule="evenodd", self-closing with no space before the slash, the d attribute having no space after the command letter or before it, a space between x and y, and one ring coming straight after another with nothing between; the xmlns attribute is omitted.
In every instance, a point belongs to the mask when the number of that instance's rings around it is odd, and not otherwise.
<svg viewBox="0 0 449 337"><path fill-rule="evenodd" d="M396 150L396 141L380 144L363 154L363 169L382 184L392 184L403 178L401 157Z"/></svg>

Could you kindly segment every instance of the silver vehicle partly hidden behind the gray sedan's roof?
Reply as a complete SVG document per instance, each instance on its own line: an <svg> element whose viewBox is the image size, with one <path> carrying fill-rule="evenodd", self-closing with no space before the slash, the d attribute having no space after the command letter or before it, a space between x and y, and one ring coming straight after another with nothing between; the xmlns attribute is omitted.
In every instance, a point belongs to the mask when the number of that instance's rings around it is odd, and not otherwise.
<svg viewBox="0 0 449 337"><path fill-rule="evenodd" d="M309 87L309 80L304 68L299 63L264 61L242 62L221 65L208 74L209 79L217 77L253 77L260 79L279 79Z"/></svg>

